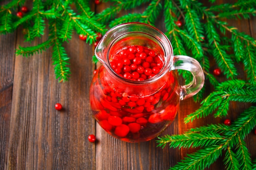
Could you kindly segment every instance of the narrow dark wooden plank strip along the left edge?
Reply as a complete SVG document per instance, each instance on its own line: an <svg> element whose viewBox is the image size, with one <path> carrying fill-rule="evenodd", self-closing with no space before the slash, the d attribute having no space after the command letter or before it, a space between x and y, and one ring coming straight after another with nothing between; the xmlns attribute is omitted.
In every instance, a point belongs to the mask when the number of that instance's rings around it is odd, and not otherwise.
<svg viewBox="0 0 256 170"><path fill-rule="evenodd" d="M16 31L0 35L0 169L7 168Z"/></svg>

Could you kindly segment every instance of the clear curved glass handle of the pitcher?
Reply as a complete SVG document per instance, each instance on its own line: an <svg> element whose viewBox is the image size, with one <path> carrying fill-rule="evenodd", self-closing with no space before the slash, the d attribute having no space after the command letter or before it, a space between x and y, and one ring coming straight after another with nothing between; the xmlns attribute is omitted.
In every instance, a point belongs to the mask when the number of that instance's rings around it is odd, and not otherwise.
<svg viewBox="0 0 256 170"><path fill-rule="evenodd" d="M186 70L193 75L193 80L184 86L180 86L180 99L189 98L198 93L204 86L204 72L199 62L192 57L185 55L175 55L171 70Z"/></svg>

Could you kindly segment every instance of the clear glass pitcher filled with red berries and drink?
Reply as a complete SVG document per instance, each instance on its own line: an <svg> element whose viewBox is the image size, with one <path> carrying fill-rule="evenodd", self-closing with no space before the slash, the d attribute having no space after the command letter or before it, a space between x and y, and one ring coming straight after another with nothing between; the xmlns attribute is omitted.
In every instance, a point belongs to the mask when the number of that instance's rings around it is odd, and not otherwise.
<svg viewBox="0 0 256 170"><path fill-rule="evenodd" d="M106 132L122 141L157 137L175 118L180 100L195 95L204 84L198 61L174 56L164 33L148 24L113 27L95 55L102 64L90 86L92 112ZM190 71L193 81L180 86L177 69Z"/></svg>

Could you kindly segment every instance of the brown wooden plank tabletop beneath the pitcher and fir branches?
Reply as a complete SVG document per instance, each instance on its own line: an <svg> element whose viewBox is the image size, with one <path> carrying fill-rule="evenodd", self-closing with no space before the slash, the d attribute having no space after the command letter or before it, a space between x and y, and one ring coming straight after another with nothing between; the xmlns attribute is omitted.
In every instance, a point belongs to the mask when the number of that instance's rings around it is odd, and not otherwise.
<svg viewBox="0 0 256 170"><path fill-rule="evenodd" d="M106 6L101 3L96 12ZM121 13L141 12L144 8ZM256 17L229 23L256 38ZM164 31L161 18L156 25ZM31 44L24 42L22 28L0 35L0 170L167 170L196 150L162 149L157 147L155 139L126 143L108 135L95 122L90 110L94 47L74 33L72 40L65 43L72 75L69 82L58 83L51 60L52 49L28 58L15 54L19 45L33 46L45 40L47 32ZM205 97L213 91L209 82L206 86ZM63 105L63 110L55 110L57 102ZM184 117L199 106L192 98L181 101L175 121L164 134L181 134L192 127L221 123L227 118L234 120L248 108L247 104L231 103L228 117L209 116L184 124ZM96 143L88 141L90 134L96 135ZM252 159L256 159L255 141L253 133L246 138ZM225 169L222 159L223 156L209 169Z"/></svg>

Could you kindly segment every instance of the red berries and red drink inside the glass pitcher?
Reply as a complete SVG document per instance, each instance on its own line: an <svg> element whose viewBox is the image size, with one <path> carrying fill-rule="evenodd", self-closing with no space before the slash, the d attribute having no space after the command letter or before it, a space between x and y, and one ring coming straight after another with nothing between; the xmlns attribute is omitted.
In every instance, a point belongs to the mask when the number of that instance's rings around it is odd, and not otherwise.
<svg viewBox="0 0 256 170"><path fill-rule="evenodd" d="M106 132L123 141L155 138L177 113L179 85L175 73L168 71L163 78L147 83L159 76L164 59L145 46L121 46L108 61L114 74L101 66L92 79L90 103L95 119ZM120 77L129 82L119 81Z"/></svg>

